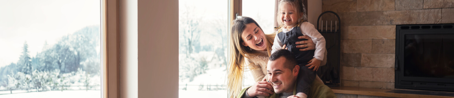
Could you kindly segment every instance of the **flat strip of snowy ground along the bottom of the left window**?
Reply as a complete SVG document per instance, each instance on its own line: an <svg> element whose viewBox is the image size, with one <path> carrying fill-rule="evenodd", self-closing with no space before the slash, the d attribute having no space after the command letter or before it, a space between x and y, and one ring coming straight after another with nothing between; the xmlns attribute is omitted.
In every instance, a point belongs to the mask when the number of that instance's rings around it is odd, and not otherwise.
<svg viewBox="0 0 454 98"><path fill-rule="evenodd" d="M0 98L101 98L101 90L54 90L45 92L20 93L21 91L1 91ZM23 92L23 91L22 91Z"/></svg>

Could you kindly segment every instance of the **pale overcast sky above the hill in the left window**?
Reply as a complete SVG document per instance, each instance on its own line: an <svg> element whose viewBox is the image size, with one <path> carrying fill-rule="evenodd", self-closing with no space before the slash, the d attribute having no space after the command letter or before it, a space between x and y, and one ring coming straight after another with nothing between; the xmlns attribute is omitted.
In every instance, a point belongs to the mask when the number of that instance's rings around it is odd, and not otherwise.
<svg viewBox="0 0 454 98"><path fill-rule="evenodd" d="M19 60L25 41L34 57L45 41L99 24L99 0L0 0L0 67Z"/></svg>

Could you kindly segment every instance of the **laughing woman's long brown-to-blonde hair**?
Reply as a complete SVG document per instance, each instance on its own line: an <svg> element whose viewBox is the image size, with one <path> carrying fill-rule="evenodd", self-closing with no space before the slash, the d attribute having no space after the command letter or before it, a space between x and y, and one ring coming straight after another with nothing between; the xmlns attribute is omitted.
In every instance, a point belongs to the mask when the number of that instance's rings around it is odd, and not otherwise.
<svg viewBox="0 0 454 98"><path fill-rule="evenodd" d="M255 23L260 30L262 28L258 25L258 23L249 17L242 17L233 20L232 25L232 33L230 37L230 60L229 60L229 67L228 67L228 81L227 81L227 89L229 90L230 98L237 97L237 94L240 92L242 87L243 81L243 72L246 69L255 69L256 67L250 65L246 65L245 57L252 58L258 55L261 55L257 52L252 52L253 49L250 47L245 47L242 45L241 34L243 33L246 25L249 23ZM263 30L262 30L263 31ZM267 43L266 43L266 50L268 51L268 56L271 55L271 47L273 46L274 37L276 33L265 34Z"/></svg>

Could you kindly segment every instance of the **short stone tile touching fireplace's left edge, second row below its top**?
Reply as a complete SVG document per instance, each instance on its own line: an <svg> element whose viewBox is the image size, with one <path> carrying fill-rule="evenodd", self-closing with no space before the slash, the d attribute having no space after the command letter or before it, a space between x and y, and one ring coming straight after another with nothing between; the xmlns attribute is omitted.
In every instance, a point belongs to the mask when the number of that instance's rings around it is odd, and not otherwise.
<svg viewBox="0 0 454 98"><path fill-rule="evenodd" d="M372 40L372 53L395 53L396 40Z"/></svg>

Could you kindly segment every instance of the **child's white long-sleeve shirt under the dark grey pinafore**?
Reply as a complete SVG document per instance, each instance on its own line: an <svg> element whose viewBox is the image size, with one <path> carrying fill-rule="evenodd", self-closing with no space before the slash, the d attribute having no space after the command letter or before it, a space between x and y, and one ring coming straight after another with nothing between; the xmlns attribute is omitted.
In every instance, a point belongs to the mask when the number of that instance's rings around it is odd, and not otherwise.
<svg viewBox="0 0 454 98"><path fill-rule="evenodd" d="M301 29L301 33L303 33L303 35L307 35L308 37L311 37L312 42L314 42L316 44L314 58L316 58L320 61L323 61L323 58L325 56L324 53L326 50L325 37L323 37L321 35L321 33L319 33L317 31L317 29L314 27L314 25L309 22L303 22L300 24L299 27ZM296 28L296 27L294 27L294 28ZM292 30L292 29L293 28L291 28L290 30ZM282 28L282 33L287 33L290 30ZM275 51L282 49L282 46L284 46L284 45L282 44L279 37L276 35L276 37L274 38L273 46L271 47L272 48L271 53L274 53Z"/></svg>

